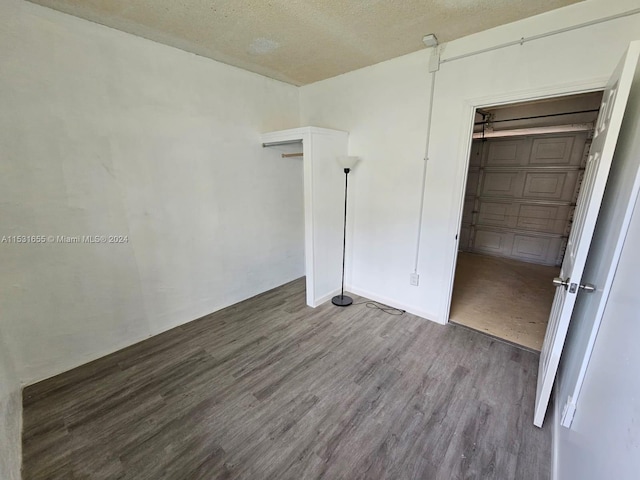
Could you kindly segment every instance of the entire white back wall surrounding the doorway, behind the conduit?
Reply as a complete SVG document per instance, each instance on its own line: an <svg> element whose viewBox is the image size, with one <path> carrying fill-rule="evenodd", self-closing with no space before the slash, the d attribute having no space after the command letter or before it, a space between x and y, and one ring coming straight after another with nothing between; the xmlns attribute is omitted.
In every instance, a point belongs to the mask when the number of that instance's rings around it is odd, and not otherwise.
<svg viewBox="0 0 640 480"><path fill-rule="evenodd" d="M591 0L445 45L443 58L637 7ZM418 272L409 285L417 241L429 96L428 51L302 87L301 122L350 132L360 155L354 181L353 291L446 322L456 256L471 104L498 104L604 86L640 15L444 63L437 73ZM483 103L484 102L484 103ZM356 175L354 175L354 180Z"/></svg>

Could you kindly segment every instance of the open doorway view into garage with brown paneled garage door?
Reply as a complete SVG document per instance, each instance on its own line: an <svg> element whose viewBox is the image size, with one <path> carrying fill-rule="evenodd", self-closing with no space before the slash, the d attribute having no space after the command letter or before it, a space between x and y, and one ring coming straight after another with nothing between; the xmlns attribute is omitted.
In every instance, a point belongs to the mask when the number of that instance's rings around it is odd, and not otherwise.
<svg viewBox="0 0 640 480"><path fill-rule="evenodd" d="M450 322L540 351L601 100L476 110Z"/></svg>

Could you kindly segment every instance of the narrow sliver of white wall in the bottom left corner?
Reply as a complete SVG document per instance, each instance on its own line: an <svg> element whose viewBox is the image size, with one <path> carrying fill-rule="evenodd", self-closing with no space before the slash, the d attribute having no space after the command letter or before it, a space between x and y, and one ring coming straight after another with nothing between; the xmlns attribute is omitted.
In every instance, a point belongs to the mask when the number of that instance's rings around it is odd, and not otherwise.
<svg viewBox="0 0 640 480"><path fill-rule="evenodd" d="M0 331L0 478L18 480L21 465L22 392Z"/></svg>

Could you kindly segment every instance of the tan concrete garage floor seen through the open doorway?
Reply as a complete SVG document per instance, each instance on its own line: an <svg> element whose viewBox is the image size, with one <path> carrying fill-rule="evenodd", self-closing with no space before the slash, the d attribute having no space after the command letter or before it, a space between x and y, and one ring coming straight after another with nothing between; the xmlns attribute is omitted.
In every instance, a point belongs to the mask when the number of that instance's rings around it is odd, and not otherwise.
<svg viewBox="0 0 640 480"><path fill-rule="evenodd" d="M558 267L460 252L450 320L540 351Z"/></svg>

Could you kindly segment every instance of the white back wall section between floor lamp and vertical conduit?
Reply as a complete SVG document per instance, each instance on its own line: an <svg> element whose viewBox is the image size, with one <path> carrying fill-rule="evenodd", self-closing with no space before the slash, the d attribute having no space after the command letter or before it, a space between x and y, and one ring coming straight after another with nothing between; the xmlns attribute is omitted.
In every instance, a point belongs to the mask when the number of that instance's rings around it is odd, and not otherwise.
<svg viewBox="0 0 640 480"><path fill-rule="evenodd" d="M302 123L349 132L362 161L349 174L352 248L346 283L371 297L425 310L413 269L429 76L424 52L301 88ZM350 233L351 233L350 232Z"/></svg>

